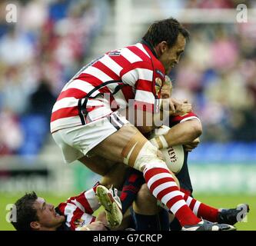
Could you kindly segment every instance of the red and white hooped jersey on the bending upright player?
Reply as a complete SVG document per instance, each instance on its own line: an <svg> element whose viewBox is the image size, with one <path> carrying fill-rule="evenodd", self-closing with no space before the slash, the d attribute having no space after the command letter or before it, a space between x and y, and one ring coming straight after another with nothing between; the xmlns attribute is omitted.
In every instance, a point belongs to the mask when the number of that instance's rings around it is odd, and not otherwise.
<svg viewBox="0 0 256 246"><path fill-rule="evenodd" d="M130 99L136 108L158 111L163 81L165 68L145 43L107 52L81 68L62 89L52 109L51 132L85 125L81 105L94 119L126 108ZM95 98L97 95L104 95L104 99ZM106 101L111 105L107 110Z"/></svg>

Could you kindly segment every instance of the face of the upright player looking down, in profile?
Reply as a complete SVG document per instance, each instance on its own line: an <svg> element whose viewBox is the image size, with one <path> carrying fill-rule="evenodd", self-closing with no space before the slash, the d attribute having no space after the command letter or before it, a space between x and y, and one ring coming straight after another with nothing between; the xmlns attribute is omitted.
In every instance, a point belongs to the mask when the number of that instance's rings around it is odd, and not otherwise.
<svg viewBox="0 0 256 246"><path fill-rule="evenodd" d="M159 61L164 65L166 75L168 75L171 68L173 68L180 61L181 54L185 50L185 45L186 38L179 34L175 45L173 45L171 48L168 48L168 45L161 48Z"/></svg>

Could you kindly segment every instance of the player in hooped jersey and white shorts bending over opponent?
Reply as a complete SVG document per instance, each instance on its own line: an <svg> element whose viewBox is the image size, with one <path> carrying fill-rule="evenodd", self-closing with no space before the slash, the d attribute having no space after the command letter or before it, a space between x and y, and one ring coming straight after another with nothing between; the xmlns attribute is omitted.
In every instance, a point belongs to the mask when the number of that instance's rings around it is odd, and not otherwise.
<svg viewBox="0 0 256 246"><path fill-rule="evenodd" d="M159 100L161 87L178 64L188 37L175 18L161 20L148 28L141 42L107 52L81 68L58 96L51 132L67 163L79 160L99 175L109 171L105 160L129 165L143 173L151 193L184 230L211 230L218 225L194 215L158 149L141 134L159 126L159 115L166 115L164 100ZM178 111L179 101L166 100L169 115ZM135 109L137 128L118 113L119 108ZM102 162L91 161L93 155Z"/></svg>

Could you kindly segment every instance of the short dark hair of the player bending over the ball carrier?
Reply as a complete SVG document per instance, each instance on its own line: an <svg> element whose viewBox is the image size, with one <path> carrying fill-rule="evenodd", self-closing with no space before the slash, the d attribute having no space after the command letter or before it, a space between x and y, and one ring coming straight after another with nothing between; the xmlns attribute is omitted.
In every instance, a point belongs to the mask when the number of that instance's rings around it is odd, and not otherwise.
<svg viewBox="0 0 256 246"><path fill-rule="evenodd" d="M143 40L149 42L153 47L165 41L171 48L175 45L179 33L186 39L189 38L189 32L175 18L166 18L153 23L148 28Z"/></svg>

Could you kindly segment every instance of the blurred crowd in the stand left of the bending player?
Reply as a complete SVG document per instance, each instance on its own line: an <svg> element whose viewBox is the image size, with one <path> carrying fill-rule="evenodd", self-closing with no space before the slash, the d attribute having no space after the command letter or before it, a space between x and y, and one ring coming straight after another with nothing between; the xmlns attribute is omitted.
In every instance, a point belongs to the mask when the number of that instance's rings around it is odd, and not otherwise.
<svg viewBox="0 0 256 246"><path fill-rule="evenodd" d="M10 3L17 23L5 20ZM34 155L59 91L105 22L108 1L1 1L0 14L0 155Z"/></svg>

